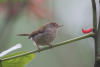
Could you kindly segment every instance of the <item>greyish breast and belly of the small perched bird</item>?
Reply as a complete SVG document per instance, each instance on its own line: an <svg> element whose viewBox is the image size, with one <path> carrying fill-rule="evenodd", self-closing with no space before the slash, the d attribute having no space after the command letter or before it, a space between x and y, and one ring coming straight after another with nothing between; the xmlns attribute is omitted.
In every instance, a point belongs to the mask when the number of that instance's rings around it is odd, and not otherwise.
<svg viewBox="0 0 100 67"><path fill-rule="evenodd" d="M56 33L52 31L47 31L40 33L34 37L34 41L39 45L47 45L52 42L56 37Z"/></svg>

